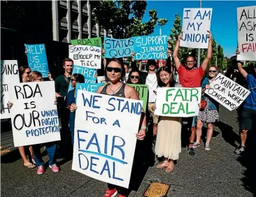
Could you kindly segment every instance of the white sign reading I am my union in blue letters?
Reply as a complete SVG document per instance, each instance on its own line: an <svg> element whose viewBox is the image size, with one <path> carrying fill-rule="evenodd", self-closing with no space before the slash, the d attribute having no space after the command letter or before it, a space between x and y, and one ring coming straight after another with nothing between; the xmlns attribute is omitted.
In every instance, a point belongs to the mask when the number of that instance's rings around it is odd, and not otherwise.
<svg viewBox="0 0 256 197"><path fill-rule="evenodd" d="M208 48L207 31L210 31L212 13L212 8L184 8L181 47Z"/></svg>

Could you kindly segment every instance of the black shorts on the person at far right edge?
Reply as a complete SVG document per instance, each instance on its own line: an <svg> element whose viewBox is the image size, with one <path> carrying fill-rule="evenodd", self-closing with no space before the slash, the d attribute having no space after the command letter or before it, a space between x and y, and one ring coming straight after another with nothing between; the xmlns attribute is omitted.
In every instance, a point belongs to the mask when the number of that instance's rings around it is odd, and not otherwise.
<svg viewBox="0 0 256 197"><path fill-rule="evenodd" d="M256 110L243 108L241 113L240 130L250 130L253 126L253 121L256 121Z"/></svg>

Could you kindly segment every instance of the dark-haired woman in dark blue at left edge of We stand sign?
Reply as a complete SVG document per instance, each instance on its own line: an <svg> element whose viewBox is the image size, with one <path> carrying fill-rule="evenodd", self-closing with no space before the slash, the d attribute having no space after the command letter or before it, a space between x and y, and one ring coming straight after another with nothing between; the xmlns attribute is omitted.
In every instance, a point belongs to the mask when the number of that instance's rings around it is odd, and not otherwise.
<svg viewBox="0 0 256 197"><path fill-rule="evenodd" d="M75 131L75 117L76 117L76 84L77 83L84 83L85 77L81 74L75 73L71 76L71 86L72 90L68 92L66 95L66 105L67 108L70 110L69 115L69 129L71 132L71 143L73 147L73 138L74 138L74 131Z"/></svg>

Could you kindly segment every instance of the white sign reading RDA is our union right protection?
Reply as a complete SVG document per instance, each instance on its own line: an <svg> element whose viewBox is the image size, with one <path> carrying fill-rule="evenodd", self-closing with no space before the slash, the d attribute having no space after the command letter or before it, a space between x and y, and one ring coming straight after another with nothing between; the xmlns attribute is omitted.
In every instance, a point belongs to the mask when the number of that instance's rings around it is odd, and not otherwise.
<svg viewBox="0 0 256 197"><path fill-rule="evenodd" d="M15 147L60 140L55 82L24 82L11 93Z"/></svg>

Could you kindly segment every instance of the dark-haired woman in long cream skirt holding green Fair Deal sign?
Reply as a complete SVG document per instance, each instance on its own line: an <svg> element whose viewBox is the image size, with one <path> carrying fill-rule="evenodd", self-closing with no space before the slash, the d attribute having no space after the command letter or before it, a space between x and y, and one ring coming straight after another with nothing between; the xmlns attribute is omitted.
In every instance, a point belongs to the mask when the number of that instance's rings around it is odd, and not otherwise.
<svg viewBox="0 0 256 197"><path fill-rule="evenodd" d="M163 66L157 72L158 85L164 87L181 87L175 82L171 75L169 66ZM155 110L155 105L152 108ZM181 117L159 116L157 126L157 143L155 144L155 154L164 157L162 163L157 168L164 168L169 173L174 168L174 161L178 160L181 152Z"/></svg>

